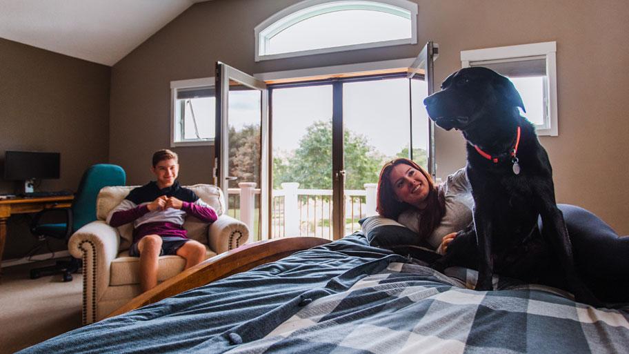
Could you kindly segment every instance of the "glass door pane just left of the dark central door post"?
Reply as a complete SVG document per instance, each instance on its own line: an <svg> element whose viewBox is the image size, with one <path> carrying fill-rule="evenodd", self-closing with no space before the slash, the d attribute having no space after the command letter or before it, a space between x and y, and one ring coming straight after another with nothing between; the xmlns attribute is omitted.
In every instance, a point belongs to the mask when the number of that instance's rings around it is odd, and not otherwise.
<svg viewBox="0 0 629 354"><path fill-rule="evenodd" d="M273 88L271 237L332 239L332 85Z"/></svg>

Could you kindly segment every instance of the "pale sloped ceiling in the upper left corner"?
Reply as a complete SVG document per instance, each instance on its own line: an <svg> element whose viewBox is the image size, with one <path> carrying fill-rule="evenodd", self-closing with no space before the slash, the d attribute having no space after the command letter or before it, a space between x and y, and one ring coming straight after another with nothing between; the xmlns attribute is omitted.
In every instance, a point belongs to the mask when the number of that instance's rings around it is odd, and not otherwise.
<svg viewBox="0 0 629 354"><path fill-rule="evenodd" d="M0 38L112 66L207 0L0 0Z"/></svg>

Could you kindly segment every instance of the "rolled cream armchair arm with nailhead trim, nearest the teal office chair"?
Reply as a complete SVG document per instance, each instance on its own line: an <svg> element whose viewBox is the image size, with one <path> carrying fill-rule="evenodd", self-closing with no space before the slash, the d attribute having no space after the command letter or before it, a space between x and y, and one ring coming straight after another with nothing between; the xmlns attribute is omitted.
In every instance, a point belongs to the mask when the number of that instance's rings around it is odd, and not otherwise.
<svg viewBox="0 0 629 354"><path fill-rule="evenodd" d="M73 257L83 259L83 323L94 322L96 304L110 282L110 267L120 244L118 230L103 221L79 228L68 242Z"/></svg>

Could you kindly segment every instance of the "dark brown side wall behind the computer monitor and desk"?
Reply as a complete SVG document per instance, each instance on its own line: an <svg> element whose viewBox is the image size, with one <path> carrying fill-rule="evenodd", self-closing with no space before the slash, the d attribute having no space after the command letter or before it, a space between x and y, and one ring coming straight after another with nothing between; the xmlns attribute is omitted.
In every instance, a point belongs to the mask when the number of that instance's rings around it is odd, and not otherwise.
<svg viewBox="0 0 629 354"><path fill-rule="evenodd" d="M0 39L0 159L6 150L61 153L61 178L41 190L76 190L83 170L108 161L108 66ZM3 181L0 193L13 193ZM23 256L35 239L25 216L12 217L4 259ZM64 248L63 242L53 248Z"/></svg>

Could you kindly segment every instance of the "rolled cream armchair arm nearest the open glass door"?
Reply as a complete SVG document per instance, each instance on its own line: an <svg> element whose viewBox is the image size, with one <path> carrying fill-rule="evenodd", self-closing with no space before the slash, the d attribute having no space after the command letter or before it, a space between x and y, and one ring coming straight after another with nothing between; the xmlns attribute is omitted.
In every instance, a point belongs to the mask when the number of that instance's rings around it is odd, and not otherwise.
<svg viewBox="0 0 629 354"><path fill-rule="evenodd" d="M229 215L219 216L208 228L208 246L216 253L233 250L249 239L249 228Z"/></svg>

